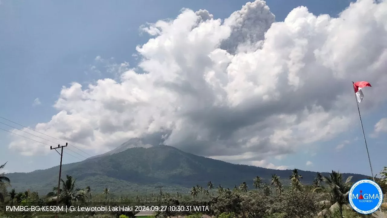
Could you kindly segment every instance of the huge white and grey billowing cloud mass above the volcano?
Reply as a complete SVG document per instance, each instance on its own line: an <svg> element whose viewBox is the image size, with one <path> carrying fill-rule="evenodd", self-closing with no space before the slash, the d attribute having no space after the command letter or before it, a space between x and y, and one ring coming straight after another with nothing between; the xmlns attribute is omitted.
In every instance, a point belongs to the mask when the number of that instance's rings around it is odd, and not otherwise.
<svg viewBox="0 0 387 218"><path fill-rule="evenodd" d="M365 95L387 92L386 20L387 2L372 0L338 18L298 7L284 22L274 22L260 0L224 22L185 9L142 27L153 38L137 47L136 69L63 87L59 112L35 129L89 152L152 136L186 152L269 167L267 157L329 140L358 122L351 81L369 81ZM374 95L361 106L386 98ZM20 137L9 147L49 152Z"/></svg>

